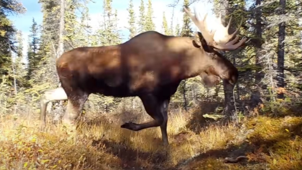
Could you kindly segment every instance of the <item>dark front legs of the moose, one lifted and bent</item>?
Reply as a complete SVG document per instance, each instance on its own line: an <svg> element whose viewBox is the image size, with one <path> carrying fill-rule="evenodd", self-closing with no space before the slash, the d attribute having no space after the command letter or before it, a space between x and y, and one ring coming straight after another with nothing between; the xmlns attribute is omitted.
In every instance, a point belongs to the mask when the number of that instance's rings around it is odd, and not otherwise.
<svg viewBox="0 0 302 170"><path fill-rule="evenodd" d="M139 131L150 127L160 126L162 132L162 140L164 145L168 145L167 122L168 122L168 105L170 98L163 99L162 97L148 94L140 96L146 112L154 119L147 123L128 122L120 126L121 128Z"/></svg>

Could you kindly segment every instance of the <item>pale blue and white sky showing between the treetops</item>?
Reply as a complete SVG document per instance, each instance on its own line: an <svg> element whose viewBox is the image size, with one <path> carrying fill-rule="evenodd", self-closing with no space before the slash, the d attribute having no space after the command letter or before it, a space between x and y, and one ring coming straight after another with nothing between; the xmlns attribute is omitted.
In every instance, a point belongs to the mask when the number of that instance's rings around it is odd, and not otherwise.
<svg viewBox="0 0 302 170"><path fill-rule="evenodd" d="M103 11L103 0L93 0L93 2L88 3L89 15L91 18L90 25L93 29L98 28L98 23L101 21L101 13ZM162 16L163 11L165 11L165 17L170 25L171 17L172 17L172 7L168 7L169 4L174 2L175 0L152 0L152 7L153 7L153 22L156 25L155 31L161 31L162 29ZM26 8L26 13L19 14L19 15L12 15L8 16L8 18L14 23L16 29L21 30L22 38L23 38L23 56L24 62L27 56L27 42L28 42L28 35L30 34L30 27L32 25L33 18L37 22L37 24L42 23L43 13L41 12L41 4L38 3L38 0L20 0L23 6ZM147 2L148 0L144 0L145 2L145 11L147 10ZM173 26L175 27L176 23L182 23L183 13L181 12L183 1L180 0L179 4L174 9L174 18L173 18ZM115 10L117 9L117 16L118 16L118 27L123 34L123 42L128 40L129 31L127 30L128 26L128 11L127 8L129 6L128 0L113 0L112 8ZM139 14L139 6L140 0L133 0L133 6L135 11L135 16L138 17ZM198 3L194 3L190 6L191 11L193 8L200 12L201 16L203 16L206 12L212 13L211 8L212 5L205 3L203 1L199 1ZM212 17L212 15L208 15L208 18ZM193 31L196 28L193 26Z"/></svg>

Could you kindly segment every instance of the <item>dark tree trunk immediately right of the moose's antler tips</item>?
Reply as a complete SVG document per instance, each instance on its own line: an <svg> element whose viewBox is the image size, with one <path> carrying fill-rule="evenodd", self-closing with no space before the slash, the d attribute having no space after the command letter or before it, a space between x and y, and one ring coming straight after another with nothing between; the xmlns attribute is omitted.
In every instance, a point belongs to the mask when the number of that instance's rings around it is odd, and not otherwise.
<svg viewBox="0 0 302 170"><path fill-rule="evenodd" d="M256 0L256 6L261 4L261 0ZM258 103L261 102L260 100L260 91L262 90L262 85L260 84L262 78L264 77L262 70L262 64L260 63L260 57L262 56L262 24L261 24L261 7L256 7L255 10L255 19L256 19L256 37L257 42L255 44L256 47L256 56L255 56L255 62L256 62L256 72L255 72L255 85L257 86L255 90L252 92L252 107L256 107Z"/></svg>

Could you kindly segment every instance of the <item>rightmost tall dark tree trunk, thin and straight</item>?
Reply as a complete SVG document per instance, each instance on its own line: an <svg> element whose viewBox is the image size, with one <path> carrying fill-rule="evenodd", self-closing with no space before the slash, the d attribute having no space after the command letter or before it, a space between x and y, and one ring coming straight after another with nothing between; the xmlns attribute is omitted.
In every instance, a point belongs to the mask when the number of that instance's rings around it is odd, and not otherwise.
<svg viewBox="0 0 302 170"><path fill-rule="evenodd" d="M280 0L281 11L280 14L284 14L285 10L285 0ZM278 32L278 75L277 75L277 87L284 87L284 38L285 38L285 23L281 22L279 24ZM278 93L278 98L283 99L284 94Z"/></svg>

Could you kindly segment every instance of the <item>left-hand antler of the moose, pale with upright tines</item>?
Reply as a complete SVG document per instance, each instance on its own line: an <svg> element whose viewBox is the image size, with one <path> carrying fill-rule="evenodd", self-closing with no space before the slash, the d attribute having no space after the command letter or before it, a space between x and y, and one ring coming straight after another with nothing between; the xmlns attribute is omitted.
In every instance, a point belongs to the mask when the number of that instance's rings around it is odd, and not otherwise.
<svg viewBox="0 0 302 170"><path fill-rule="evenodd" d="M191 20L194 22L194 24L197 26L197 28L199 29L199 31L201 32L204 40L207 42L207 44L209 46L213 46L213 36L215 31L212 31L211 33L207 30L207 23L205 22L205 20L207 19L207 13L206 15L204 15L203 20L199 20L196 16L197 16L197 12L196 12L196 8L194 8L194 14L192 15L191 12L188 11L187 8L184 8L185 12L188 14L188 16L191 18Z"/></svg>

